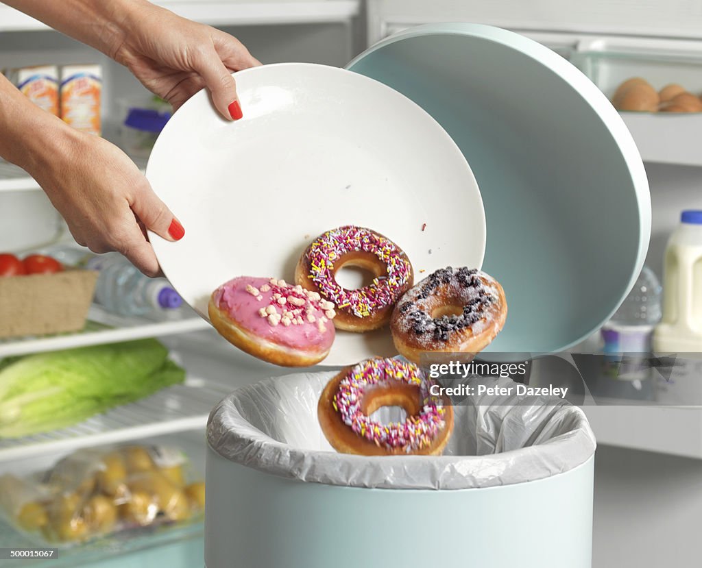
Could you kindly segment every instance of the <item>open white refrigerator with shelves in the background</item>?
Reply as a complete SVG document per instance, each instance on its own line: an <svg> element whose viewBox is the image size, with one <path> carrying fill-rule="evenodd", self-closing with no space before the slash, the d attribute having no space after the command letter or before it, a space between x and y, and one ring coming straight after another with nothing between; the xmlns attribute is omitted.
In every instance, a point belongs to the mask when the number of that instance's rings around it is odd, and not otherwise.
<svg viewBox="0 0 702 568"><path fill-rule="evenodd" d="M608 97L632 76L644 76L657 88L675 82L702 92L702 7L685 0L160 0L157 4L234 34L265 63L343 67L373 43L415 25L477 22L510 29L555 50ZM138 81L97 51L0 6L0 68L74 63L102 67L103 135L124 144L120 124L124 107L148 97ZM652 233L647 264L661 278L665 242L680 211L702 208L698 191L702 114L661 117L623 112L622 117L649 178ZM143 167L145 156L135 156L135 161ZM607 217L606 203L602 217L592 219L593 225L604 222L616 223ZM15 166L0 163L0 252L24 254L70 241L65 223L37 183ZM211 408L237 386L286 373L234 349L187 309L177 318L154 320L120 318L93 305L88 317L99 325L78 334L3 340L0 358L157 337L185 367L185 383L71 428L0 440L0 474L37 471L83 447L134 442L178 446L202 476L204 428ZM597 349L596 336L590 344ZM698 564L701 410L670 405L585 411L598 440L593 567ZM160 562L199 567L203 534L202 520L195 520L61 550L49 564L107 568ZM4 522L0 548L18 546L34 548ZM11 560L0 560L0 566L4 562L13 565ZM232 559L232 566L237 565Z"/></svg>

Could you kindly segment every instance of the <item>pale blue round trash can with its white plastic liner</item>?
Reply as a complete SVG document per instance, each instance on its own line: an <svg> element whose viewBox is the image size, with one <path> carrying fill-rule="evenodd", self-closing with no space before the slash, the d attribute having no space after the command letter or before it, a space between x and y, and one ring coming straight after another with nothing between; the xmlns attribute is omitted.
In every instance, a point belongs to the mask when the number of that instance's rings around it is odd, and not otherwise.
<svg viewBox="0 0 702 568"><path fill-rule="evenodd" d="M212 411L207 568L590 567L595 438L578 407L472 397L443 456L339 454L317 422L334 374L267 379Z"/></svg>

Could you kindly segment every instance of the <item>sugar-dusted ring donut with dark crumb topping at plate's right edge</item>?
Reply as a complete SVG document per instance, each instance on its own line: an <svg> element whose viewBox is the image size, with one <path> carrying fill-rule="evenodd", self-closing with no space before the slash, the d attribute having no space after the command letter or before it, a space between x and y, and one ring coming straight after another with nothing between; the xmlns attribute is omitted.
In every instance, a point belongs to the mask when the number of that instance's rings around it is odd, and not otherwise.
<svg viewBox="0 0 702 568"><path fill-rule="evenodd" d="M468 268L437 270L400 299L390 319L399 353L419 363L423 352L478 353L507 317L502 286Z"/></svg>

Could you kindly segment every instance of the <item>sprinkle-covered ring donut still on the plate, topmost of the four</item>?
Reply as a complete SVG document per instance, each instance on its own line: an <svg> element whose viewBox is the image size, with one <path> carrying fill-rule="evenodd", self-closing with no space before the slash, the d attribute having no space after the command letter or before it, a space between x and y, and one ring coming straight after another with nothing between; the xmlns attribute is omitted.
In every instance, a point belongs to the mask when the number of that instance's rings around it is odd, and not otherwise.
<svg viewBox="0 0 702 568"><path fill-rule="evenodd" d="M373 273L373 282L347 290L336 281L343 266ZM348 225L326 231L312 241L295 270L295 281L336 306L334 325L340 330L366 332L388 323L397 299L411 288L412 265L389 238Z"/></svg>

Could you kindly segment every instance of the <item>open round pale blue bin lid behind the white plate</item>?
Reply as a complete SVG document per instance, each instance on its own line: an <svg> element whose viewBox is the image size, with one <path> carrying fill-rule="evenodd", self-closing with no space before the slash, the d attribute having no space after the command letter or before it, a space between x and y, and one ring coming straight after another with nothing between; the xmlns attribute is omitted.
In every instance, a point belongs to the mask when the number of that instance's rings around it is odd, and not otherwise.
<svg viewBox="0 0 702 568"><path fill-rule="evenodd" d="M609 319L641 271L651 201L630 133L585 75L535 41L465 23L411 28L347 68L428 111L475 173L483 269L509 309L486 351L560 351Z"/></svg>

